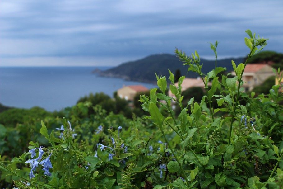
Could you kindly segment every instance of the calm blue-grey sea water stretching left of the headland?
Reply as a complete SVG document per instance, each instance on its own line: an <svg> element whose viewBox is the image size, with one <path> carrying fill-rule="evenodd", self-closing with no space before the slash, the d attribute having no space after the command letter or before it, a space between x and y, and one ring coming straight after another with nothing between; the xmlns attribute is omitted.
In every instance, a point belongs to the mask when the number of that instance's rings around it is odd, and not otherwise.
<svg viewBox="0 0 283 189"><path fill-rule="evenodd" d="M90 92L104 92L110 97L123 85L148 83L98 77L94 69L107 67L0 67L0 103L6 106L31 108L40 106L48 111L75 105Z"/></svg>

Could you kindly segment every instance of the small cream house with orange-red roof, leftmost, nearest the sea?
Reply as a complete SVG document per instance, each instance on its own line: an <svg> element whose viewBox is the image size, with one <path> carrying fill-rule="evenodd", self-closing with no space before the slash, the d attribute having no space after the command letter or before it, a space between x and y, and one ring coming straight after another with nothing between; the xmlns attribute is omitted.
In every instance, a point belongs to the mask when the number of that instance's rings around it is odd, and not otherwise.
<svg viewBox="0 0 283 189"><path fill-rule="evenodd" d="M123 86L123 88L118 89L117 95L120 98L124 98L125 100L133 101L137 93L148 91L148 90L149 90L148 88L142 85L128 85L128 86Z"/></svg>

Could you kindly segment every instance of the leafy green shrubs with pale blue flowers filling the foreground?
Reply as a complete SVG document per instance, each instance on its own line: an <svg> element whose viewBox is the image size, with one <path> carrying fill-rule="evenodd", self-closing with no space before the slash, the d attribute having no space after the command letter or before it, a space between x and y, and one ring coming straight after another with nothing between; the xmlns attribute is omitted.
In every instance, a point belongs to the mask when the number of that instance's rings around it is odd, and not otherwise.
<svg viewBox="0 0 283 189"><path fill-rule="evenodd" d="M252 57L266 39L246 32L249 38L244 42ZM11 141L15 145L11 149L21 153L15 157L7 148L10 144L1 143L5 150L0 156L0 187L280 189L283 97L279 86L255 97L241 87L247 62L231 65L237 76L228 78L219 75L225 70L221 67L203 72L197 51L191 57L179 50L176 54L202 78L205 94L198 102L193 97L183 104L188 98L181 90L185 77L175 86L169 70L169 90L175 96L167 96L166 76L155 75L159 89L140 95L142 109L149 112L143 119L104 110L111 104L100 103L104 97L115 102L98 94L100 100L90 95L63 110L63 119L47 113L43 120L26 120L24 129L19 123L0 125L1 141ZM19 134L23 144L14 138Z"/></svg>

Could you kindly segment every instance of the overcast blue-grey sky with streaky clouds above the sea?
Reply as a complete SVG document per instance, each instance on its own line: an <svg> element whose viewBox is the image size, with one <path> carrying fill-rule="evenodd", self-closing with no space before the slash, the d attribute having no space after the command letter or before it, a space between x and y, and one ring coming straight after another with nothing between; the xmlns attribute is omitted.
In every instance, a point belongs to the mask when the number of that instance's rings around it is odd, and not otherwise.
<svg viewBox="0 0 283 189"><path fill-rule="evenodd" d="M283 52L282 0L1 0L0 66L116 66L197 50L213 59L249 53L246 29Z"/></svg>

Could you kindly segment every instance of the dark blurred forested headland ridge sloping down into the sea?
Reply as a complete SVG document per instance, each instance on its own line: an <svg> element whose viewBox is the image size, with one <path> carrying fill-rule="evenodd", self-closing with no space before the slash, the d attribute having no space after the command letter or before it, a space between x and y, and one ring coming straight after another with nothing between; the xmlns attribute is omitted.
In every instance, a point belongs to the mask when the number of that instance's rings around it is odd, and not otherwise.
<svg viewBox="0 0 283 189"><path fill-rule="evenodd" d="M244 57L217 60L217 67L226 67L227 71L231 71L233 69L231 59L233 59L236 64L239 64L243 62ZM201 64L203 64L203 73L207 73L215 68L215 60L201 58ZM185 75L187 78L196 78L198 76L197 73L188 72L188 66L183 65L183 63L179 61L179 58L173 54L154 54L143 59L126 62L101 72L100 76L153 83L156 81L154 72L156 72L157 75L165 75L166 78L169 78L168 69L174 74L176 70L179 69L181 75Z"/></svg>

